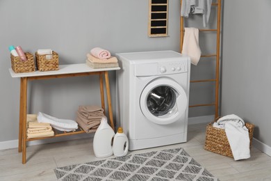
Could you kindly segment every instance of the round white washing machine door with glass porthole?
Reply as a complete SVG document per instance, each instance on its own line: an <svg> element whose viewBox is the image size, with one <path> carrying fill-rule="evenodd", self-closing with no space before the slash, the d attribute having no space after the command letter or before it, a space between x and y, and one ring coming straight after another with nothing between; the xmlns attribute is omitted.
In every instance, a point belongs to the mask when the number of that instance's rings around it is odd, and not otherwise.
<svg viewBox="0 0 271 181"><path fill-rule="evenodd" d="M140 96L140 109L153 123L167 125L179 120L188 107L183 88L166 77L151 81Z"/></svg>

